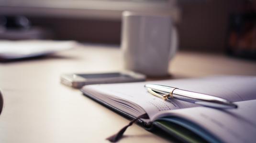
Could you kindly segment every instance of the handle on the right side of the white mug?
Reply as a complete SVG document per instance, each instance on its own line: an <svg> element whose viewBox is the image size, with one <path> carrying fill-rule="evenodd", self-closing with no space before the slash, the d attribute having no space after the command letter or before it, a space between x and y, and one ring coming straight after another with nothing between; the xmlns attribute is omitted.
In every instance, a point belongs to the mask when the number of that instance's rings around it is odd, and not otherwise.
<svg viewBox="0 0 256 143"><path fill-rule="evenodd" d="M171 60L174 57L177 50L178 50L178 31L175 26L172 26L169 60Z"/></svg>

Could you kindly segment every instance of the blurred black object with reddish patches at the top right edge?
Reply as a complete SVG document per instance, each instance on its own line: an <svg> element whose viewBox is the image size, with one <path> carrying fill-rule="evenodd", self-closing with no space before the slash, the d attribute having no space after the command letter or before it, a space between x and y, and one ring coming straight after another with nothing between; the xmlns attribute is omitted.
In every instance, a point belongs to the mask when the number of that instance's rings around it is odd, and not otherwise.
<svg viewBox="0 0 256 143"><path fill-rule="evenodd" d="M242 12L229 20L227 53L233 56L256 59L256 2L245 0Z"/></svg>

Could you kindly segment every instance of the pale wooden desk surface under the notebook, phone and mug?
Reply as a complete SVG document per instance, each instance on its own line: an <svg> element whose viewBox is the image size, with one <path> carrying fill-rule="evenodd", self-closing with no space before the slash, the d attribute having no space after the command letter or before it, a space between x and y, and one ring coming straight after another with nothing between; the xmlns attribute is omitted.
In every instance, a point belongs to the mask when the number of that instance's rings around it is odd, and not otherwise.
<svg viewBox="0 0 256 143"><path fill-rule="evenodd" d="M0 143L102 143L129 120L60 84L60 74L122 70L121 51L100 45L79 46L35 60L0 63L5 106ZM212 74L256 75L256 62L223 55L178 52L170 63L173 78ZM121 143L167 143L138 125ZM108 142L107 142L108 143Z"/></svg>

